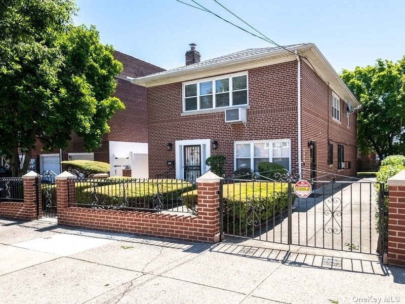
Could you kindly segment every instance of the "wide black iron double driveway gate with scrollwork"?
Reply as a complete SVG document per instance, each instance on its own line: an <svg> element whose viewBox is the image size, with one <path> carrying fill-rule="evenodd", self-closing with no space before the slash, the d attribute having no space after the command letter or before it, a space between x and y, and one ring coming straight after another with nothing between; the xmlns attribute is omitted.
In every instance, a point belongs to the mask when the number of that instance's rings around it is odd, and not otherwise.
<svg viewBox="0 0 405 304"><path fill-rule="evenodd" d="M384 184L313 180L308 198L294 194L298 174L222 179L221 233L286 245L375 253L384 248ZM379 231L379 233L377 232ZM381 251L381 250L380 250Z"/></svg>

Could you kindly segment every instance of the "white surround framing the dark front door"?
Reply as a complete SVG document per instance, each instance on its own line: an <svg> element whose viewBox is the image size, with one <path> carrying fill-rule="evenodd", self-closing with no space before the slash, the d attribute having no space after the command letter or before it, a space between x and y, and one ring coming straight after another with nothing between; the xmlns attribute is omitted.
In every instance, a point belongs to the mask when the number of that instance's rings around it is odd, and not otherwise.
<svg viewBox="0 0 405 304"><path fill-rule="evenodd" d="M201 174L207 172L211 167L206 165L206 159L211 156L210 139L189 139L176 140L176 178L184 179L183 147L185 145L201 146Z"/></svg>

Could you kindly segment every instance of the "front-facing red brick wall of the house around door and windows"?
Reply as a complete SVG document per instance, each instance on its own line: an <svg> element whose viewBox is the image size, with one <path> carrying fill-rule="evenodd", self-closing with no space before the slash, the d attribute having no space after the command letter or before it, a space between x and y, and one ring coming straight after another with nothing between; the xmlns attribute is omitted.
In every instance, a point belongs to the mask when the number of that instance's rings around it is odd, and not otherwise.
<svg viewBox="0 0 405 304"><path fill-rule="evenodd" d="M167 171L166 160L175 159L174 142L187 139L217 140L211 155L227 158L226 174L232 175L234 141L290 138L293 168L297 167L297 62L249 70L247 128L228 125L224 113L183 116L182 83L148 88L149 176ZM168 151L166 144L173 143Z"/></svg>

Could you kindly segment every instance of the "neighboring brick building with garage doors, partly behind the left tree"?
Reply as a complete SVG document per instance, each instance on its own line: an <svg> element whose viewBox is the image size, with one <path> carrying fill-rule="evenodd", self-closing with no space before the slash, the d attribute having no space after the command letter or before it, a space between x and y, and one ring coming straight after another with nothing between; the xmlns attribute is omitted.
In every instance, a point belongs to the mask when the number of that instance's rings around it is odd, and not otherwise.
<svg viewBox="0 0 405 304"><path fill-rule="evenodd" d="M147 177L146 88L132 84L131 80L164 71L164 69L118 51L114 51L114 58L124 66L124 70L115 77L117 87L114 96L125 104L126 109L116 111L108 122L110 132L104 135L101 147L92 153L86 153L83 139L75 134L71 135L69 147L62 151L41 151L42 144L38 141L36 149L32 152L31 169L36 169L36 172L39 173L52 170L59 174L61 160L85 159L109 163L111 165L110 176L123 175L123 168L131 163L137 164L136 168L132 170L132 175ZM132 159L130 152L132 152Z"/></svg>

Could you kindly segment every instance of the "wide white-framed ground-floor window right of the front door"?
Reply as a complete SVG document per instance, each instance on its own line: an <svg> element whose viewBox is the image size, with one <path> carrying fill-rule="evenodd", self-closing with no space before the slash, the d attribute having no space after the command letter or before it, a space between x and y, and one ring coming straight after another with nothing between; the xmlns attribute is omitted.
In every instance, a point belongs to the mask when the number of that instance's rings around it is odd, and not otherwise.
<svg viewBox="0 0 405 304"><path fill-rule="evenodd" d="M290 170L291 144L289 139L235 141L235 170L250 168L258 172L261 162L273 162Z"/></svg>

